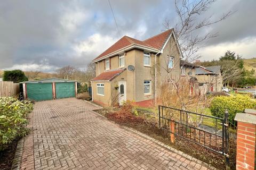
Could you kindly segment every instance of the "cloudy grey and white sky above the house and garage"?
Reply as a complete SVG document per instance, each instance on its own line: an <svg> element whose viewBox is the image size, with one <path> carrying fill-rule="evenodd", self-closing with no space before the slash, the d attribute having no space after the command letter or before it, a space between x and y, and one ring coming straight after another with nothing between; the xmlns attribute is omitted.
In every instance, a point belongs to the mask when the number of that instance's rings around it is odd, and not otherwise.
<svg viewBox="0 0 256 170"><path fill-rule="evenodd" d="M124 35L140 40L165 30L166 19L177 22L170 0L9 0L0 2L0 70L53 72L72 65L85 68L93 58ZM201 61L226 50L256 57L256 1L217 1L208 14L236 11L210 28L218 37L204 44Z"/></svg>

